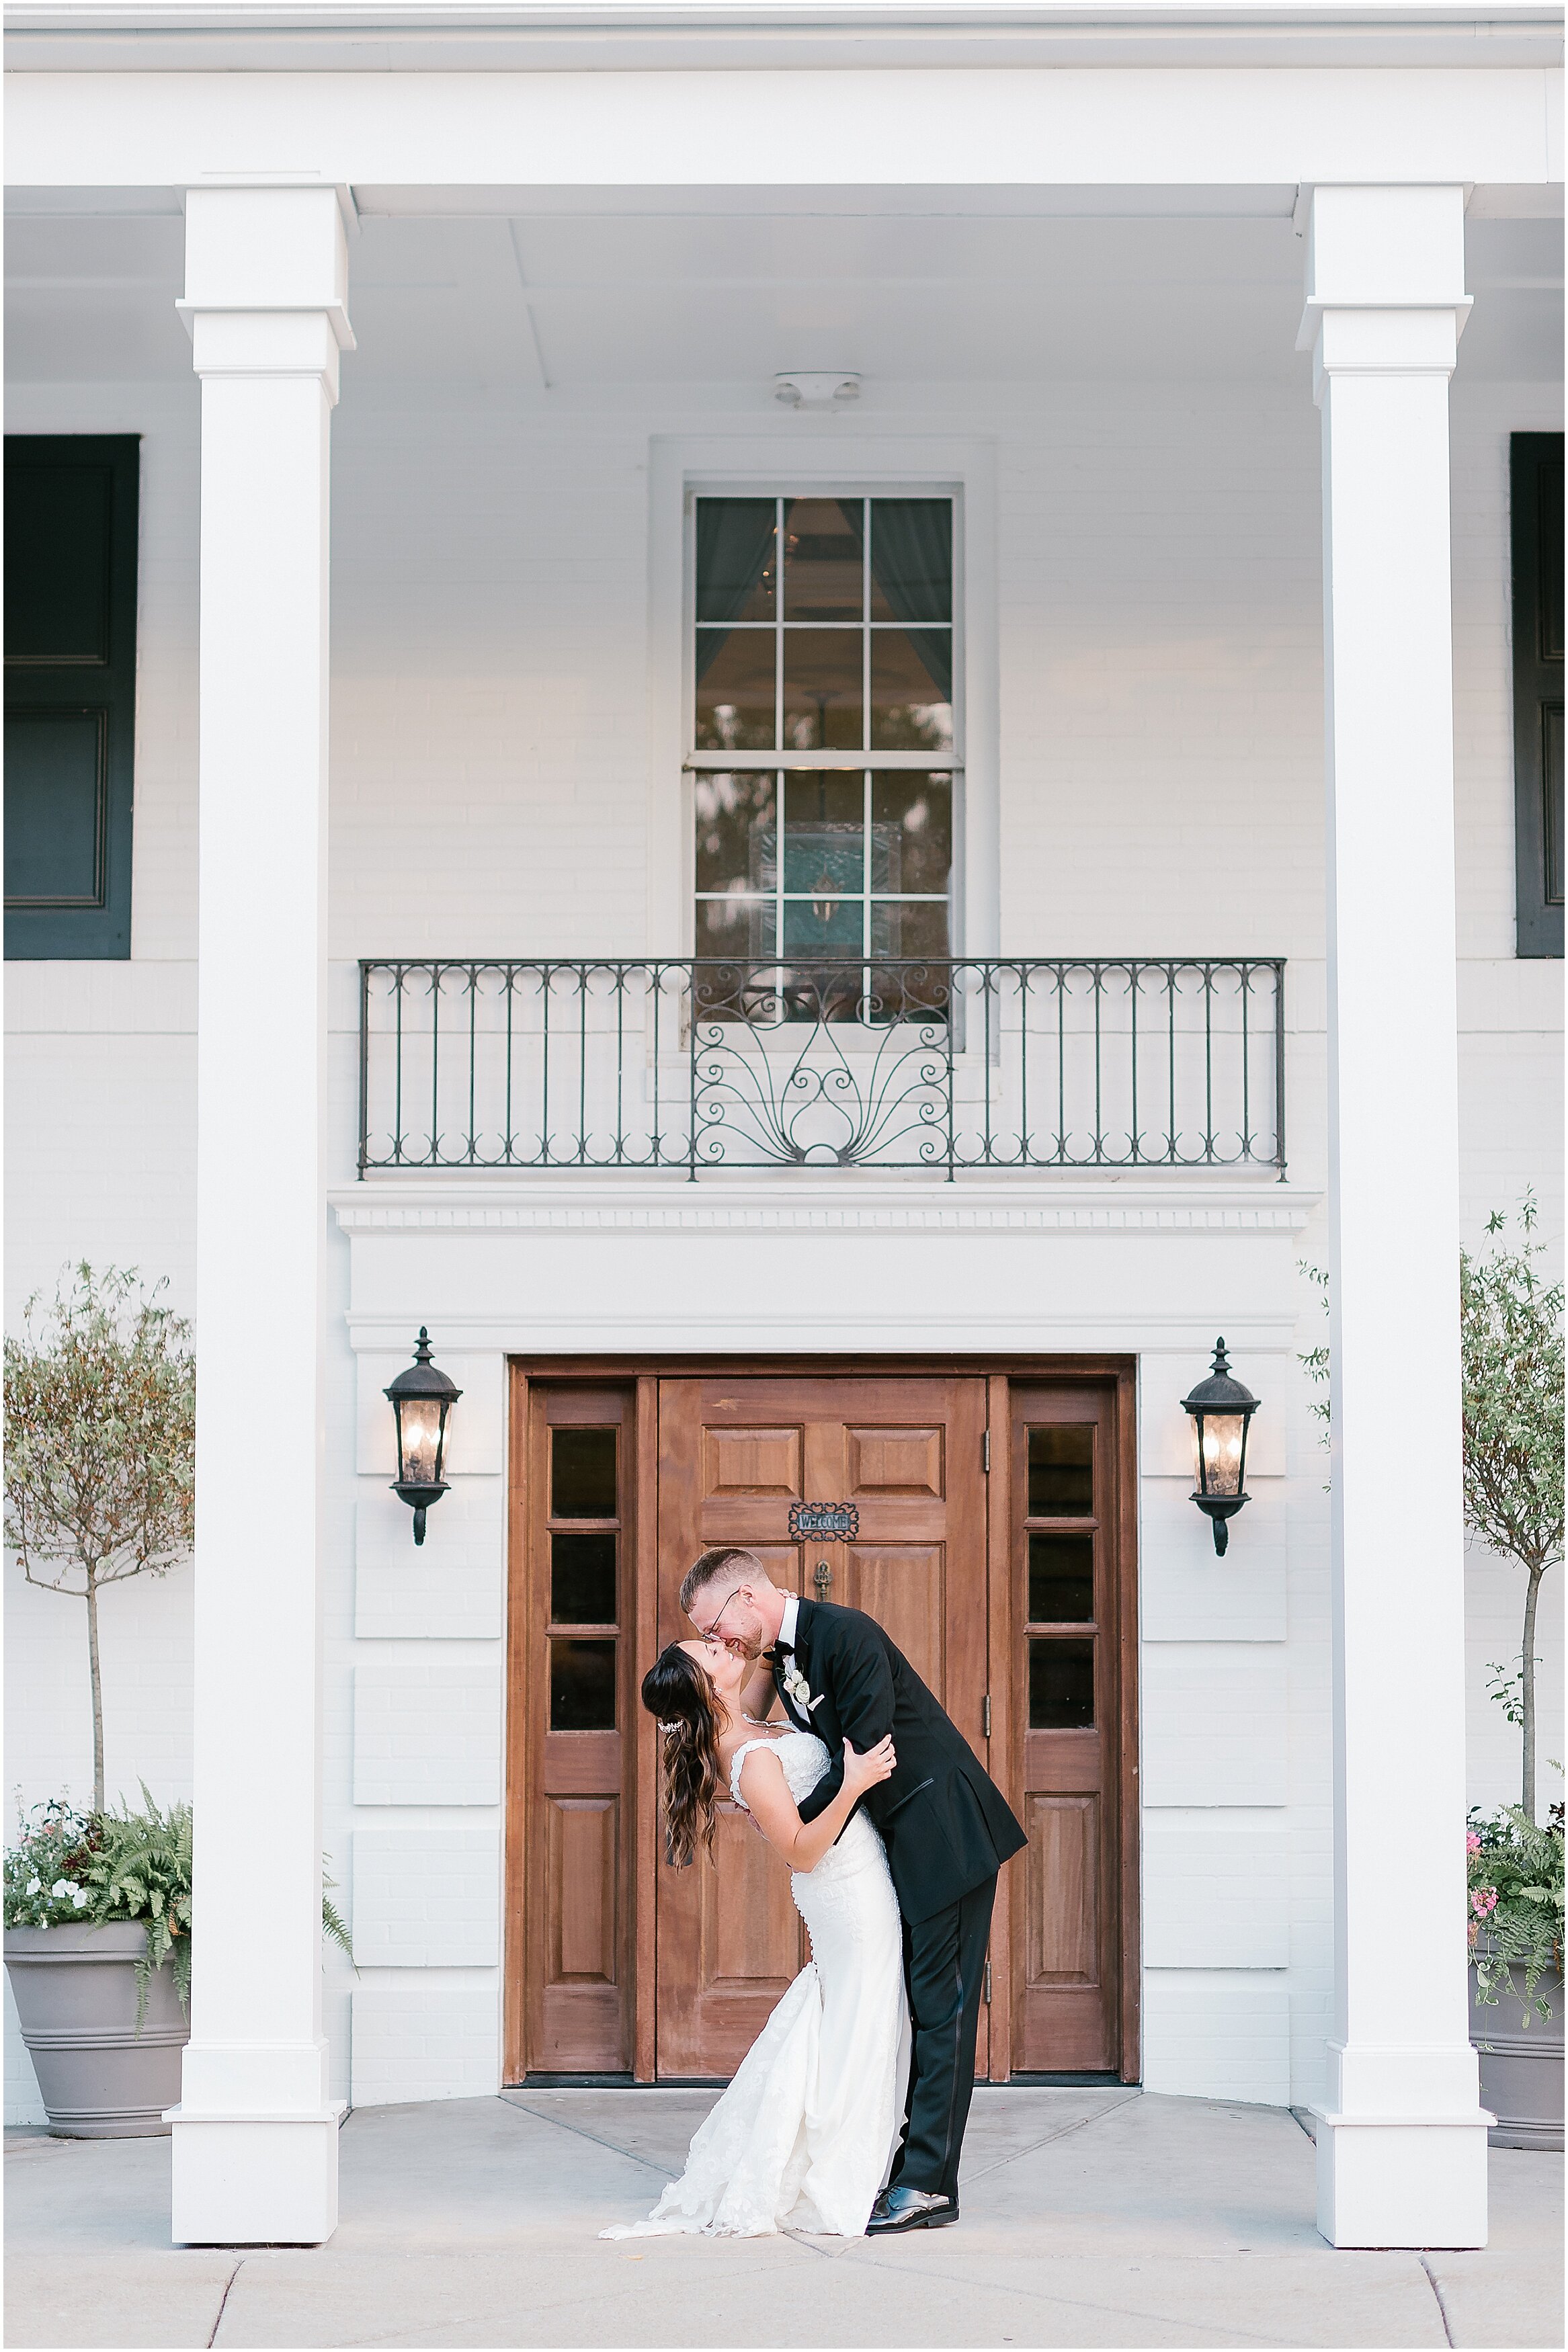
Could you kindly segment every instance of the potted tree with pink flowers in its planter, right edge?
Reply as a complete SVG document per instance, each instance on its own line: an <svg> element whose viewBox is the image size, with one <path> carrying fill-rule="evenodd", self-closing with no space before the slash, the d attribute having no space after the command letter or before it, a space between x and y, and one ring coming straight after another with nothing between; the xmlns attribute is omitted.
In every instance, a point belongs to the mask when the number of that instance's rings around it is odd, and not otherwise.
<svg viewBox="0 0 1568 2352"><path fill-rule="evenodd" d="M1483 1256L1460 1254L1465 1524L1523 1569L1519 1672L1495 1668L1519 1724L1519 1804L1469 1823L1472 2042L1481 2098L1505 2147L1563 2145L1563 1809L1537 1820L1535 1609L1563 1559L1563 1287L1535 1261L1535 1200L1505 1242L1493 1211Z"/></svg>

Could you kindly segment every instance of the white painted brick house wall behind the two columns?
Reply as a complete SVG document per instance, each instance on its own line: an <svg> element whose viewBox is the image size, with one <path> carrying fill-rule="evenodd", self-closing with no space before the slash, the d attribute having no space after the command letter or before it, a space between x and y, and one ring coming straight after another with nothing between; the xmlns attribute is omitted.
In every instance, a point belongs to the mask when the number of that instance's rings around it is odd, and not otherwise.
<svg viewBox="0 0 1568 2352"><path fill-rule="evenodd" d="M1474 1235L1490 1207L1533 1181L1556 1249L1561 967L1512 960L1505 492L1507 430L1552 426L1561 407L1540 386L1472 381L1467 348L1453 400L1462 1195ZM186 365L181 350L176 360ZM190 1305L197 393L174 372L110 381L115 365L150 367L115 360L113 336L99 365L99 383L14 386L9 423L143 433L134 960L9 969L12 1322L28 1289L82 1254L167 1272L176 1305ZM1293 1176L1314 1185L1321 607L1319 423L1305 376L1286 362L1267 383L1063 381L1048 395L945 386L917 405L889 386L879 400L879 416L867 402L865 430L914 423L926 437L980 433L997 447L997 579L985 586L999 614L1001 943L1288 955ZM444 393L378 381L369 348L346 372L334 421L334 1176L353 1169L353 957L637 953L651 927L668 924L646 880L651 818L668 823L679 793L675 774L649 774L646 750L649 435L778 433L792 447L797 423L731 412L717 390L686 402L637 388L597 402L552 395L548 412L470 390L458 416ZM853 447L860 423L839 426ZM1392 1138L1394 1195L1399 1181ZM630 1181L628 1200L635 1190ZM1300 1254L1321 1263L1319 1235L1321 1221ZM769 1282L792 1296L832 1287L842 1261L830 1247L780 1251ZM1039 1242L985 1247L1018 1251L1016 1301L1048 1294L1041 1268L1056 1261L1039 1256ZM458 1362L442 1350L444 1301L425 1284L437 1261L421 1258L400 1289L388 1272L395 1249L357 1244L355 1265L378 1251L378 1296L395 1298L409 1341L421 1317L433 1322L437 1355L465 1388L456 1486L416 1552L407 1512L386 1494L381 1388L404 1355L378 1341L357 1369L334 1319L324 1835L355 1919L364 1898L367 1933L409 1952L421 1950L437 1867L418 1860L433 1835L421 1809L463 1806L491 1851L498 1842L498 1816L477 1816L501 1795L505 1425L498 1352ZM602 1244L543 1240L520 1254L463 1237L440 1261L447 1298L484 1296L527 1319L531 1268L567 1249ZM614 1298L632 1312L656 1244L628 1237L616 1249ZM1248 1249L1239 1237L1225 1261L1229 1298L1255 1301L1274 1284ZM341 1237L331 1251L336 1312L362 1277ZM715 1298L733 1308L738 1294L717 1251L701 1249L693 1263L686 1336L701 1341L703 1312ZM933 1317L966 1312L971 1261L943 1258L940 1279L931 1251L924 1263ZM1086 1294L1086 1312L1150 1312L1140 1501L1150 2082L1274 2098L1293 2067L1295 2093L1309 2096L1331 1983L1324 1463L1291 1334L1272 1331L1258 1359L1239 1345L1244 1378L1265 1395L1255 1501L1229 1557L1213 1557L1185 1501L1182 1461L1171 1458L1185 1444L1175 1397L1197 1367L1178 1367L1159 1341L1161 1315L1208 1312L1211 1268L1180 1235L1107 1242ZM1298 1343L1312 1338L1305 1322ZM1514 1583L1483 1557L1469 1564L1472 1792L1483 1802L1509 1795L1514 1778L1514 1736L1481 1696L1483 1661L1516 1644ZM80 1609L26 1590L7 1597L7 1785L21 1783L26 1802L61 1785L80 1792ZM1559 1625L1561 1576L1540 1642L1549 1755L1563 1752ZM158 1795L188 1785L188 1661L190 1576L110 1597L118 1788L134 1790L141 1773ZM1227 1860L1253 1835L1241 1816L1265 1804L1279 1809L1288 1853L1288 1969L1239 1964L1225 1875L1178 1867L1173 1856L1197 1851L1182 1837L1199 1832L1161 1818L1204 1809L1213 1825L1201 1835ZM407 1809L402 1825L388 1825L393 1806ZM374 1849L381 1860L364 1896L355 1830L388 1839ZM1182 1886L1206 1889L1185 1919ZM1279 1950L1274 1929L1260 1950ZM494 1983L491 1969L484 1990L360 1985L355 2096L494 2086ZM348 2089L346 1987L346 1966L329 1962L339 2089Z"/></svg>

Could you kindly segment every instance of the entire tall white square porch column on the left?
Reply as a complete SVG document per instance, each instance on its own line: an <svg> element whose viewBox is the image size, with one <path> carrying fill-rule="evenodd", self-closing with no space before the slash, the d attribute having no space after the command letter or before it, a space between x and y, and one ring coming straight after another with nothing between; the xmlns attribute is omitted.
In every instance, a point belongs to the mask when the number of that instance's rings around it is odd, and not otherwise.
<svg viewBox="0 0 1568 2352"><path fill-rule="evenodd" d="M331 188L186 198L202 379L195 1980L176 2244L320 2244Z"/></svg>

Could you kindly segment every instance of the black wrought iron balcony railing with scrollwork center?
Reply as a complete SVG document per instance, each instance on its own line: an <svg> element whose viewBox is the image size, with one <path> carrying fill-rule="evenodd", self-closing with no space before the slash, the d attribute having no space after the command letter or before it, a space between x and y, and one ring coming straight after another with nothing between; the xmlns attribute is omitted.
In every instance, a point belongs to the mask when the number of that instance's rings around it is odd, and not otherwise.
<svg viewBox="0 0 1568 2352"><path fill-rule="evenodd" d="M1281 957L360 964L374 1169L1284 1174Z"/></svg>

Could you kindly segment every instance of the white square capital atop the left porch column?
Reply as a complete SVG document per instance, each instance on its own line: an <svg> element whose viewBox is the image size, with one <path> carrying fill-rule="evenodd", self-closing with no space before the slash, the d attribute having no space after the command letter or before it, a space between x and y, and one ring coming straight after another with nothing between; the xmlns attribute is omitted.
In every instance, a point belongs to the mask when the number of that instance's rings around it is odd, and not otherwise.
<svg viewBox="0 0 1568 2352"><path fill-rule="evenodd" d="M197 376L317 376L339 397L348 238L336 188L188 188L186 292Z"/></svg>

